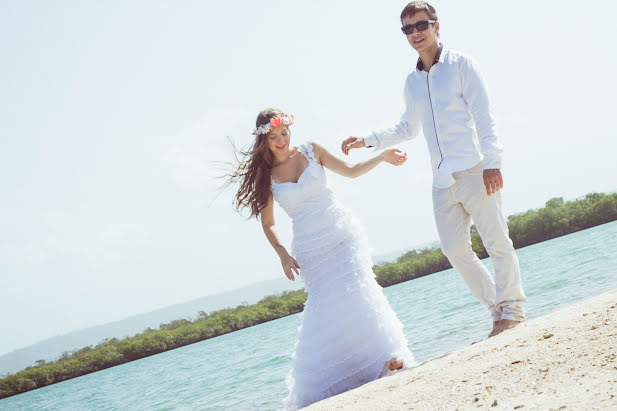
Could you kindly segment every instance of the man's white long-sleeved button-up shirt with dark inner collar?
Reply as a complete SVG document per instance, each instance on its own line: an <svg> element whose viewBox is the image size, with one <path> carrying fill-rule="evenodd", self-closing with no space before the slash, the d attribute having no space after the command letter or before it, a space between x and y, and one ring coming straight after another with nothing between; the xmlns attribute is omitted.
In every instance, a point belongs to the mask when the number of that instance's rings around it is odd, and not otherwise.
<svg viewBox="0 0 617 411"><path fill-rule="evenodd" d="M364 137L367 147L381 150L415 138L428 143L433 186L454 184L452 173L482 161L484 169L501 168L502 145L486 84L476 62L441 47L428 72L418 67L405 82L405 112L394 127Z"/></svg>

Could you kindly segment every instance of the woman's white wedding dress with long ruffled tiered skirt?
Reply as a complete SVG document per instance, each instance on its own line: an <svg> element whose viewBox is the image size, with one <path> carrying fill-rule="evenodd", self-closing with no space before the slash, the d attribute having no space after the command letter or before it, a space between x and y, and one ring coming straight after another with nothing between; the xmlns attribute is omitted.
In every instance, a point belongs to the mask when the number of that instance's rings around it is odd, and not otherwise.
<svg viewBox="0 0 617 411"><path fill-rule="evenodd" d="M272 180L275 200L293 221L292 255L308 299L287 376L286 409L380 377L392 357L415 365L401 322L375 281L362 228L326 185L311 143L297 183Z"/></svg>

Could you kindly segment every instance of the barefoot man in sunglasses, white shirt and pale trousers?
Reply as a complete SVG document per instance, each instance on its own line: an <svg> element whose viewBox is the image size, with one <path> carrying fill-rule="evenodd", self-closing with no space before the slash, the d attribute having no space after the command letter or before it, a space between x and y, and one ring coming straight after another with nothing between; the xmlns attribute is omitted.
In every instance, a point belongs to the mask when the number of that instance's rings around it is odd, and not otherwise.
<svg viewBox="0 0 617 411"><path fill-rule="evenodd" d="M424 1L401 13L403 33L420 57L405 83L405 112L394 127L349 137L345 155L376 150L423 132L433 168L433 209L441 249L493 318L489 337L525 319L516 252L501 209L502 146L476 62L439 43L435 9ZM473 219L495 267L495 282L471 249Z"/></svg>

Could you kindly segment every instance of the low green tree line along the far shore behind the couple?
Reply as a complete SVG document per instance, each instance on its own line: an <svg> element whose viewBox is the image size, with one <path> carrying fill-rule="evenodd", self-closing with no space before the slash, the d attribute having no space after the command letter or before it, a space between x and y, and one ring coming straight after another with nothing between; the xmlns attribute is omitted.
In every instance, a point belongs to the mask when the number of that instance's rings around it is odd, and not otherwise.
<svg viewBox="0 0 617 411"><path fill-rule="evenodd" d="M617 193L591 193L568 202L553 198L543 208L512 215L508 217L508 228L514 247L520 248L615 220ZM471 229L471 241L479 258L488 256L475 227ZM373 270L377 282L387 287L450 267L439 247L427 247L411 250L396 262L376 265ZM211 313L200 311L194 321L179 319L132 337L106 339L96 346L65 352L53 362L38 360L35 365L0 379L0 398L295 314L304 308L306 297L304 290L286 291L253 305L242 304Z"/></svg>

